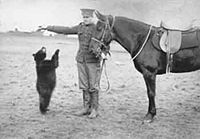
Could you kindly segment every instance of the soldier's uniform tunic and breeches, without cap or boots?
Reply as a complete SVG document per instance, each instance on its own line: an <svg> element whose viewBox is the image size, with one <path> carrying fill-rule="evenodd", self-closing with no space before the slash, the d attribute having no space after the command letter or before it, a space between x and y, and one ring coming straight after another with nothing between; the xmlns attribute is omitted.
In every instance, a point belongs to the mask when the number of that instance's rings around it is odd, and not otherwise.
<svg viewBox="0 0 200 139"><path fill-rule="evenodd" d="M89 90L90 92L99 90L100 82L100 58L97 58L93 53L89 51L89 43L91 41L94 24L86 25L80 23L74 27L63 26L48 26L47 30L60 34L77 34L79 40L79 49L76 55L79 87L83 90Z"/></svg>

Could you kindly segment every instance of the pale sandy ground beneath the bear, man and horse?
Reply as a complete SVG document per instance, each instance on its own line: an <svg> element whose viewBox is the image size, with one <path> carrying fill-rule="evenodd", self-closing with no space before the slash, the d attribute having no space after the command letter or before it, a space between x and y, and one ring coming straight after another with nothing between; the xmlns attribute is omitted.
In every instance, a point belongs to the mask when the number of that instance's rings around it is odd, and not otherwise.
<svg viewBox="0 0 200 139"><path fill-rule="evenodd" d="M148 99L142 75L128 53L112 44L107 61L110 93L102 76L100 116L74 113L82 107L77 86L76 40L0 35L1 139L199 139L200 71L157 76L157 116L142 124ZM60 49L57 86L50 111L41 115L32 54L47 47L47 57Z"/></svg>

